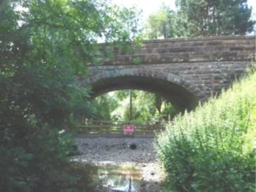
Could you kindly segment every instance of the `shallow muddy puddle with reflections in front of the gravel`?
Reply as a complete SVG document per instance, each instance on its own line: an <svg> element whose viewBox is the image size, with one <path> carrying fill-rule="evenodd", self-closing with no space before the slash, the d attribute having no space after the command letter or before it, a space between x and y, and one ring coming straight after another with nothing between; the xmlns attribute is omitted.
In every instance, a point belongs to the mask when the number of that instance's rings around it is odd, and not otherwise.
<svg viewBox="0 0 256 192"><path fill-rule="evenodd" d="M90 166L89 170L107 191L140 192L141 170L133 166Z"/></svg>

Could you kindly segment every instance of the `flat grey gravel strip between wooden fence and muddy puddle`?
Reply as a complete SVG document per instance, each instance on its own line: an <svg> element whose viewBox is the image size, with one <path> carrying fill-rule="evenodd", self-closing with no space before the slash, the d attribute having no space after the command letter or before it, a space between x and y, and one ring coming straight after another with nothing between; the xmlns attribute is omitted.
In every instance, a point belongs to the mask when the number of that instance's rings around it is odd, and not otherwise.
<svg viewBox="0 0 256 192"><path fill-rule="evenodd" d="M152 138L76 138L75 144L82 155L73 160L96 165L158 162L153 141ZM133 143L135 150L129 147Z"/></svg>

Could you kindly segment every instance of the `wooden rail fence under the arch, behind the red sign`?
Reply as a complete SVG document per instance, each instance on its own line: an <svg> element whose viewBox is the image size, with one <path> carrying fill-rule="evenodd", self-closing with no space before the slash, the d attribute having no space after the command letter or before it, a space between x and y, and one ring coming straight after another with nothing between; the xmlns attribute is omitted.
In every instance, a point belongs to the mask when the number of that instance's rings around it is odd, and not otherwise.
<svg viewBox="0 0 256 192"><path fill-rule="evenodd" d="M165 128L165 121L78 121L77 132L123 133L124 125L134 125L135 133L154 133Z"/></svg>

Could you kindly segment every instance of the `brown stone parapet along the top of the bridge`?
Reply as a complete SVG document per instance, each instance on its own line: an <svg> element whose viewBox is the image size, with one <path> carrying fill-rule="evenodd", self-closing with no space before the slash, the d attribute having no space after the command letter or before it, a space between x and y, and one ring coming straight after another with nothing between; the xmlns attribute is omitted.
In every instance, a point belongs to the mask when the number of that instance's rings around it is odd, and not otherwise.
<svg viewBox="0 0 256 192"><path fill-rule="evenodd" d="M244 61L250 60L255 51L255 36L144 40L142 48L133 55L114 48L114 58L100 65L133 64L134 58L140 58L141 64Z"/></svg>

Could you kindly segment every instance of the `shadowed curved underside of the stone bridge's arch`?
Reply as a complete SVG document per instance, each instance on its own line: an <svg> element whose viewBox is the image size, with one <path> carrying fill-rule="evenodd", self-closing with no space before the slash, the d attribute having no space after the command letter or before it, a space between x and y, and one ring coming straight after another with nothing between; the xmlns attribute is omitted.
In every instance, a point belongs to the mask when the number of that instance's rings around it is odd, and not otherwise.
<svg viewBox="0 0 256 192"><path fill-rule="evenodd" d="M106 92L137 89L159 94L162 98L170 101L176 110L180 112L185 111L185 109L192 110L199 103L199 98L185 87L168 80L150 76L116 76L98 80L90 83L90 85L92 100Z"/></svg>

